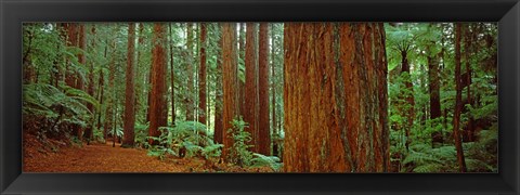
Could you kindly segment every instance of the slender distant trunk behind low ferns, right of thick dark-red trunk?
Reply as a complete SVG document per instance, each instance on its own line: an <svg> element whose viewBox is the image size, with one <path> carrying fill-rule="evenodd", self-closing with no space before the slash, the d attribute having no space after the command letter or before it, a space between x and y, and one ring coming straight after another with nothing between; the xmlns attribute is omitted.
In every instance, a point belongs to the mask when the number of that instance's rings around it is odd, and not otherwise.
<svg viewBox="0 0 520 195"><path fill-rule="evenodd" d="M198 69L198 121L206 123L206 23L200 24L200 66Z"/></svg>

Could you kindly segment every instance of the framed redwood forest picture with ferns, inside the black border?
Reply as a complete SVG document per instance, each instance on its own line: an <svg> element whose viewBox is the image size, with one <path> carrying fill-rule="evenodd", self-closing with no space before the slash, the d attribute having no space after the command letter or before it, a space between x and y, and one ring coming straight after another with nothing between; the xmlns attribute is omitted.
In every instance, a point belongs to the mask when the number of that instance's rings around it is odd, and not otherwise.
<svg viewBox="0 0 520 195"><path fill-rule="evenodd" d="M495 23L24 23L24 172L497 172Z"/></svg>

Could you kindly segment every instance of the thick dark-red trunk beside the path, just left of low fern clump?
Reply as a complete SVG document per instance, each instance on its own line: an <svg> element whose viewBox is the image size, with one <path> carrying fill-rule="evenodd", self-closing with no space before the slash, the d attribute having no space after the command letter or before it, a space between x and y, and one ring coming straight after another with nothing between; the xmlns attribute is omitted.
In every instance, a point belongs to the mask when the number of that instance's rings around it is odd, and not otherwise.
<svg viewBox="0 0 520 195"><path fill-rule="evenodd" d="M166 50L162 46L166 42L166 30L162 23L154 24L154 38L152 42L152 95L150 101L150 129L148 136L158 138L161 132L159 127L167 125L168 109L166 105ZM150 144L157 144L157 141L148 140Z"/></svg>

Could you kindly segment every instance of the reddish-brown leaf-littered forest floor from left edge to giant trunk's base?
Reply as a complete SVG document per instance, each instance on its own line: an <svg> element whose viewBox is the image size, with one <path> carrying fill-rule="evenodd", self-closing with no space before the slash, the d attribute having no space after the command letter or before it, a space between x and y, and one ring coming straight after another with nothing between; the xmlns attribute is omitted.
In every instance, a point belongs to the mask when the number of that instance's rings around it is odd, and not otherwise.
<svg viewBox="0 0 520 195"><path fill-rule="evenodd" d="M40 141L24 134L24 172L270 172L268 168L244 169L202 158L169 157L160 160L143 148L122 148L112 142L75 144Z"/></svg>

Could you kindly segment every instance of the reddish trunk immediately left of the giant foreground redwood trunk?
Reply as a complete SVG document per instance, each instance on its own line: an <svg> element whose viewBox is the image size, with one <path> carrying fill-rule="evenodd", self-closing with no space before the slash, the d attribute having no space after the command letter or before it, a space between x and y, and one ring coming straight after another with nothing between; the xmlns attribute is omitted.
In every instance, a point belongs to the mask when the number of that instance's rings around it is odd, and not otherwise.
<svg viewBox="0 0 520 195"><path fill-rule="evenodd" d="M271 131L269 127L269 36L268 24L260 23L258 55L258 153L271 155Z"/></svg>

